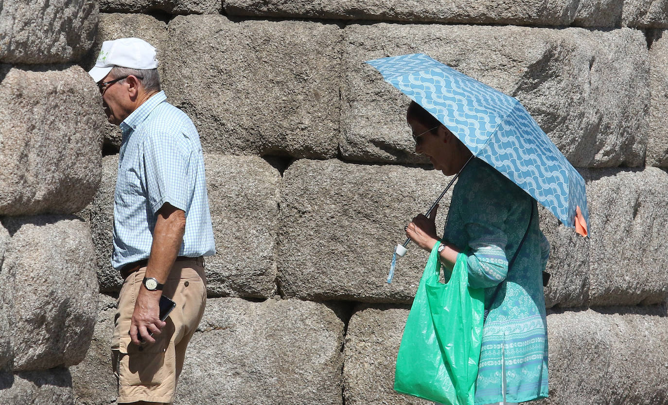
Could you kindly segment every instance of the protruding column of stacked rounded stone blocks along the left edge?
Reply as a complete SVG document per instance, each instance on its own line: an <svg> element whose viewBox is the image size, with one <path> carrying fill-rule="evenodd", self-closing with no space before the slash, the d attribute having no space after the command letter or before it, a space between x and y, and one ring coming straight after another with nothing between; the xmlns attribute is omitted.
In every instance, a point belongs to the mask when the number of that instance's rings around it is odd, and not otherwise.
<svg viewBox="0 0 668 405"><path fill-rule="evenodd" d="M104 115L76 63L92 0L0 2L0 404L72 404L98 317L90 225Z"/></svg>

